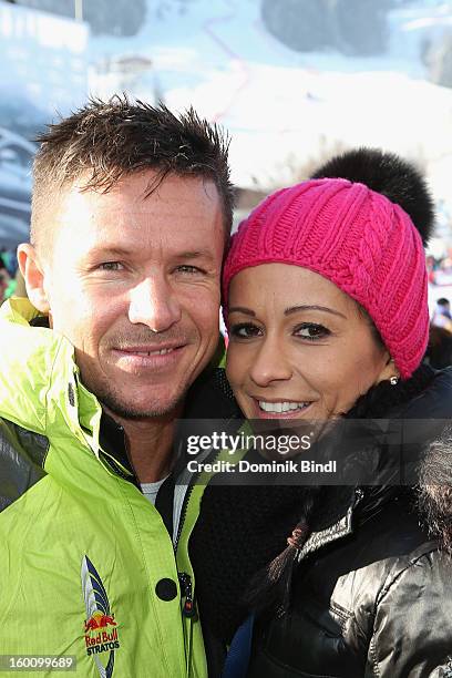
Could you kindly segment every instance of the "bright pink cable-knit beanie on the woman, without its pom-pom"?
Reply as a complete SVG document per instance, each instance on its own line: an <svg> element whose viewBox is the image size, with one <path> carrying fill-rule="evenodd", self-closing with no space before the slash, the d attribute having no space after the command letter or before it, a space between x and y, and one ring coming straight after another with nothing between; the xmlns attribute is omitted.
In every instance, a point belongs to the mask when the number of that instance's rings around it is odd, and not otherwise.
<svg viewBox="0 0 452 678"><path fill-rule="evenodd" d="M225 306L235 275L274 261L316 271L358 301L403 379L419 367L429 338L425 254L399 205L343 178L277 191L232 238L223 274Z"/></svg>

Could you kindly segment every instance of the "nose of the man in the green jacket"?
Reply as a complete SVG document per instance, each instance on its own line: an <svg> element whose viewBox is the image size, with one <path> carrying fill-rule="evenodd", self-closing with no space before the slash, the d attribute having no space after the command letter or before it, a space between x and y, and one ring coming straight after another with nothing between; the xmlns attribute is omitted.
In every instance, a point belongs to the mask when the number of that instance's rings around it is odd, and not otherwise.
<svg viewBox="0 0 452 678"><path fill-rule="evenodd" d="M181 305L163 276L147 277L130 295L129 319L146 325L154 332L163 332L178 322Z"/></svg>

